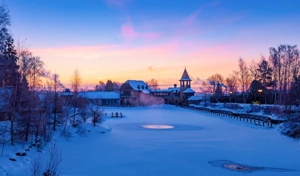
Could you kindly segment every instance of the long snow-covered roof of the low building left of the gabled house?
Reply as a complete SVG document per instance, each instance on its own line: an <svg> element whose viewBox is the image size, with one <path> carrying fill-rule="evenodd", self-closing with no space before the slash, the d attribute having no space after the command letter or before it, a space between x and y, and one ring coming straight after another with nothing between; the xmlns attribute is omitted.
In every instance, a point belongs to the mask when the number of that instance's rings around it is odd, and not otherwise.
<svg viewBox="0 0 300 176"><path fill-rule="evenodd" d="M119 99L120 93L116 91L80 91L79 96L87 99Z"/></svg>

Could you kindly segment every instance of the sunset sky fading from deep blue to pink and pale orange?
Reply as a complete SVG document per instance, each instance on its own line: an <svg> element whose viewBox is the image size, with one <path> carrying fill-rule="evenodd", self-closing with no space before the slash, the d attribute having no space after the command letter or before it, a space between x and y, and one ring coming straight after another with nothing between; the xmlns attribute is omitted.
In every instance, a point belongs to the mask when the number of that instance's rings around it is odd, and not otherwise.
<svg viewBox="0 0 300 176"><path fill-rule="evenodd" d="M5 0L15 38L26 39L45 69L68 85L99 80L179 83L186 66L201 79L299 44L300 0Z"/></svg>

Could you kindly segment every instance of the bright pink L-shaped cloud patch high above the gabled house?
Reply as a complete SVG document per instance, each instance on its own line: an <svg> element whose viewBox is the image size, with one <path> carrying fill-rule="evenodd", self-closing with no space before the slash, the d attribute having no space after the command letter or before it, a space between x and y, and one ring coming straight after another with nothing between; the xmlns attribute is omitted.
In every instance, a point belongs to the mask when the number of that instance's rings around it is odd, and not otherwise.
<svg viewBox="0 0 300 176"><path fill-rule="evenodd" d="M125 40L134 40L134 39L156 39L161 33L160 32L137 32L131 22L124 23L121 26L121 34Z"/></svg>

